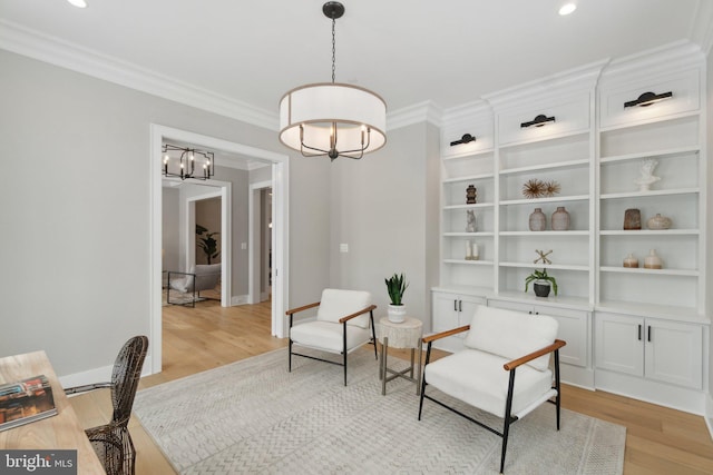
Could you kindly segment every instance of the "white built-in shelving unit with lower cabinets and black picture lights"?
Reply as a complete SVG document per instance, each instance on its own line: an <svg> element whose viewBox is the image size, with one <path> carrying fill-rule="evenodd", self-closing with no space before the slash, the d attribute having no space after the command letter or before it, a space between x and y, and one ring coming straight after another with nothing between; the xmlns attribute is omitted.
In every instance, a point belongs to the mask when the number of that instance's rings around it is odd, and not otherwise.
<svg viewBox="0 0 713 475"><path fill-rule="evenodd" d="M565 380L702 412L710 347L704 79L701 51L672 44L447 111L433 330L467 324L473 305L547 314L568 342ZM624 107L644 92L668 91L652 106ZM521 126L538 115L555 120ZM450 146L463 133L477 140ZM648 189L641 185L646 160L660 178ZM526 197L530 179L559 190ZM476 204L466 204L469 185ZM560 207L570 226L553 230ZM546 230L529 229L535 208L547 216ZM624 229L633 208L642 229ZM466 231L467 211L476 214L475 232ZM647 227L656 214L672 219L668 229ZM467 241L478 245L478 260L466 259ZM538 261L536 249L550 263ZM651 249L663 268L644 267ZM624 267L629 255L639 267ZM557 296L525 293L526 276L543 267L557 278ZM461 343L450 338L443 349Z"/></svg>

